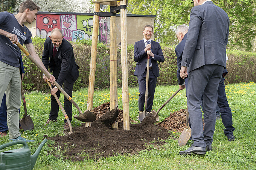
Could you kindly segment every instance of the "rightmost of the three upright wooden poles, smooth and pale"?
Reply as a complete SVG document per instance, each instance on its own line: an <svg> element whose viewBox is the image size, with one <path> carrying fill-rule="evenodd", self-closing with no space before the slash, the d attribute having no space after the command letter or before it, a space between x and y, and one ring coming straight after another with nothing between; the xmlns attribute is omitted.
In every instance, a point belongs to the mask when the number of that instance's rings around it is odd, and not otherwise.
<svg viewBox="0 0 256 170"><path fill-rule="evenodd" d="M120 5L126 5L126 0L120 1ZM130 130L126 9L121 9L120 12L121 12L120 25L121 25L121 58L122 58L121 61L122 61L123 129Z"/></svg>

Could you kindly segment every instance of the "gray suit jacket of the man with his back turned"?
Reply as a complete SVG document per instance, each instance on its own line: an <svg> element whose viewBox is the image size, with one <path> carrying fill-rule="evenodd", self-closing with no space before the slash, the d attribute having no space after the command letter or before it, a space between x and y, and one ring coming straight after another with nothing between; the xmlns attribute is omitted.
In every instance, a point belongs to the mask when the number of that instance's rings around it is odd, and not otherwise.
<svg viewBox="0 0 256 170"><path fill-rule="evenodd" d="M229 17L223 9L212 1L193 7L181 66L187 72L208 64L226 67L228 37Z"/></svg>

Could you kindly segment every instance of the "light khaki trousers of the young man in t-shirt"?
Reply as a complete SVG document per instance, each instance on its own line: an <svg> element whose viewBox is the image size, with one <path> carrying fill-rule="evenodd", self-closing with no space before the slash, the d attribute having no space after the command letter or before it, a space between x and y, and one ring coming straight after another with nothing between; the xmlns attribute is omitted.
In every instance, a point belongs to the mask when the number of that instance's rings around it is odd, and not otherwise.
<svg viewBox="0 0 256 170"><path fill-rule="evenodd" d="M0 103L6 93L7 122L10 139L20 136L19 111L20 108L20 68L13 67L0 61Z"/></svg>

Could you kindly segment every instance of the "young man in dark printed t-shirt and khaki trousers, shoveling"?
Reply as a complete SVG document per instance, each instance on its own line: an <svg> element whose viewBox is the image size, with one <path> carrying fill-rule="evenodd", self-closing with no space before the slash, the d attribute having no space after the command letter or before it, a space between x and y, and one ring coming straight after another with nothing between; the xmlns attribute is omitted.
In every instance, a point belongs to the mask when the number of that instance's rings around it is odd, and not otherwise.
<svg viewBox="0 0 256 170"><path fill-rule="evenodd" d="M31 32L23 25L24 22L31 24L37 18L37 11L40 7L33 1L26 0L20 4L19 13L13 15L8 12L0 13L0 103L6 92L7 121L9 137L11 140L23 140L33 142L21 137L19 132L18 109L20 108L21 81L19 58L20 49L16 45L18 42L25 43L30 55L44 67L41 59L35 52L31 40ZM46 72L50 73L45 69ZM50 75L50 82L55 81Z"/></svg>

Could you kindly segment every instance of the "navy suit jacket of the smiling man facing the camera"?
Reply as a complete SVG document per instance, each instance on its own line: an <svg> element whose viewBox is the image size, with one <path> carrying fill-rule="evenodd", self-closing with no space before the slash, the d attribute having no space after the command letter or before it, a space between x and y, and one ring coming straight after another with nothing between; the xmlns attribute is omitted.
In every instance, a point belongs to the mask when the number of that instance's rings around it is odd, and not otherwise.
<svg viewBox="0 0 256 170"><path fill-rule="evenodd" d="M136 68L134 76L141 76L145 72L148 55L144 51L145 49L144 40L137 41L134 44L134 56L133 59L136 61ZM159 69L157 61L164 62L165 57L163 56L162 48L158 42L151 40L151 51L154 54L154 58L151 58L152 69L155 77L159 77Z"/></svg>

